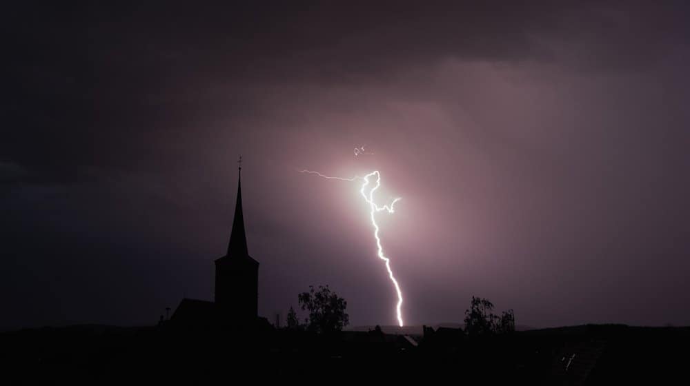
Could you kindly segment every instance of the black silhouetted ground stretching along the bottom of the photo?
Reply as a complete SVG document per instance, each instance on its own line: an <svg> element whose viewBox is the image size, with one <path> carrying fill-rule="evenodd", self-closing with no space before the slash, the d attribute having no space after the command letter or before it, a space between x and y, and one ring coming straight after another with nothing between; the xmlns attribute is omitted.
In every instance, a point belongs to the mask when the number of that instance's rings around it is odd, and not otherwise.
<svg viewBox="0 0 690 386"><path fill-rule="evenodd" d="M3 380L37 383L328 384L380 380L603 385L687 381L690 327L582 325L468 338L271 327L181 331L84 325L0 334ZM17 382L19 381L19 382Z"/></svg>

